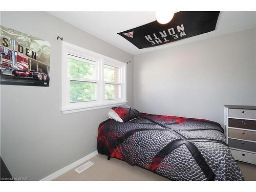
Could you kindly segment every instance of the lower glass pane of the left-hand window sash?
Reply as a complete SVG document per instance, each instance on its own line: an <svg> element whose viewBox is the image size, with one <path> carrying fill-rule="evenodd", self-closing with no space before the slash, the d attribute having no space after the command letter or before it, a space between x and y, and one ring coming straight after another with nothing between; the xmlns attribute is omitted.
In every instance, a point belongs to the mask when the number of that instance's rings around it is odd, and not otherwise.
<svg viewBox="0 0 256 192"><path fill-rule="evenodd" d="M96 83L70 81L70 102L96 100Z"/></svg>

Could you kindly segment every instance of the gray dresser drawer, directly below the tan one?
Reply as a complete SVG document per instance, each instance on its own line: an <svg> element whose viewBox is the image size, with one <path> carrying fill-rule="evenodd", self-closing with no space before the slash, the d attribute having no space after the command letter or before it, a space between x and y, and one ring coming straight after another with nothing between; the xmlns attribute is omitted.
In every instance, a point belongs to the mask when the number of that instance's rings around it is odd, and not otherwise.
<svg viewBox="0 0 256 192"><path fill-rule="evenodd" d="M256 143L254 142L242 141L237 139L228 139L228 145L231 148L239 148L240 150L256 152Z"/></svg>

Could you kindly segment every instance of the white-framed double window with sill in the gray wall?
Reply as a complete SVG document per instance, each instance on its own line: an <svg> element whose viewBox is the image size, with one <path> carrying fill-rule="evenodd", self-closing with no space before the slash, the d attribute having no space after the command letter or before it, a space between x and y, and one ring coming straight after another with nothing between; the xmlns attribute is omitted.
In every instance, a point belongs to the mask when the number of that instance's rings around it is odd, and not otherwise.
<svg viewBox="0 0 256 192"><path fill-rule="evenodd" d="M126 63L63 42L62 109L71 113L125 104Z"/></svg>

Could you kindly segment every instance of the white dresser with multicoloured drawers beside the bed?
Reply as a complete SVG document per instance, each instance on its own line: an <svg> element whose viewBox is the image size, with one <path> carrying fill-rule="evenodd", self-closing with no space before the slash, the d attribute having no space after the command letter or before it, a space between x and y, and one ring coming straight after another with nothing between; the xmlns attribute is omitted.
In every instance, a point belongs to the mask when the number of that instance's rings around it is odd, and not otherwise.
<svg viewBox="0 0 256 192"><path fill-rule="evenodd" d="M225 134L234 159L256 164L256 106L224 105Z"/></svg>

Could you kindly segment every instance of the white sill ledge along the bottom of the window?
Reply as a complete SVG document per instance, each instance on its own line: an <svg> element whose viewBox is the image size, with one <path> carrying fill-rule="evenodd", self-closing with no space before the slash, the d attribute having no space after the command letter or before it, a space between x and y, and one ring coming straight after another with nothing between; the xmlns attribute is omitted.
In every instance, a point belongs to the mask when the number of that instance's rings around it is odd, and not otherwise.
<svg viewBox="0 0 256 192"><path fill-rule="evenodd" d="M61 111L63 114L76 113L76 112L81 112L81 111L109 108L111 106L126 104L127 102L128 101L123 101L123 102L116 102L116 103L111 103L111 104L102 104L102 105L88 106L88 107L84 107L84 106L83 107L67 107L67 108L62 108Z"/></svg>

